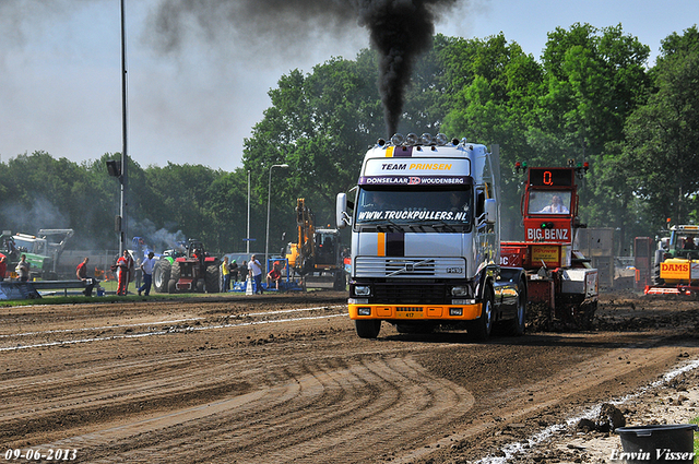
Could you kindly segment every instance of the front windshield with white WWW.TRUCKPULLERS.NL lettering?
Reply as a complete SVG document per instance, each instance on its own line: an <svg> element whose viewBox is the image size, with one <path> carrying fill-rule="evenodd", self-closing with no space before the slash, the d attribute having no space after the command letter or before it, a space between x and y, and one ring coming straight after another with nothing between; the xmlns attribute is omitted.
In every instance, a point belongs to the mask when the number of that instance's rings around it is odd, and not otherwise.
<svg viewBox="0 0 699 464"><path fill-rule="evenodd" d="M359 190L356 224L467 231L472 224L471 190Z"/></svg>

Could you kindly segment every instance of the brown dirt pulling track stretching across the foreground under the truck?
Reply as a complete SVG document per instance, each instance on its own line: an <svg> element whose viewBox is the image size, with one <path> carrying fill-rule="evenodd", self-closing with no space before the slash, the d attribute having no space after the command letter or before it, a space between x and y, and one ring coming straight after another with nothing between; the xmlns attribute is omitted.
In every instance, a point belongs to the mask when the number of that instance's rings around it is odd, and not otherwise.
<svg viewBox="0 0 699 464"><path fill-rule="evenodd" d="M696 301L607 296L594 331L474 344L360 340L345 297L0 308L0 455L473 462L699 359Z"/></svg>

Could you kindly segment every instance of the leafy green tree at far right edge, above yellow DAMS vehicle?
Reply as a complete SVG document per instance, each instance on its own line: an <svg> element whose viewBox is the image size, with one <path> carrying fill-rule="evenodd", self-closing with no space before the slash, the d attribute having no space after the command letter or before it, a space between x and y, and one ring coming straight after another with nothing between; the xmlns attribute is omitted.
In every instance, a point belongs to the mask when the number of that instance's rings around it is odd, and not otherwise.
<svg viewBox="0 0 699 464"><path fill-rule="evenodd" d="M699 31L671 34L651 72L656 92L626 124L625 169L660 228L697 219L699 206Z"/></svg>

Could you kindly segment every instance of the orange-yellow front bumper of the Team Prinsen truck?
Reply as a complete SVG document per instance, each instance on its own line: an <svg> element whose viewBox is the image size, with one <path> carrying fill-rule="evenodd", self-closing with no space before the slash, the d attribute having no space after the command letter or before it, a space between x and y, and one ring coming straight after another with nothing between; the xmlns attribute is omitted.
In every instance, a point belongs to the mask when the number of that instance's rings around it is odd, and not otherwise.
<svg viewBox="0 0 699 464"><path fill-rule="evenodd" d="M350 319L380 319L405 321L471 321L481 317L482 304L475 305L348 305ZM369 314L359 314L359 309ZM452 316L452 309L461 309L461 314Z"/></svg>

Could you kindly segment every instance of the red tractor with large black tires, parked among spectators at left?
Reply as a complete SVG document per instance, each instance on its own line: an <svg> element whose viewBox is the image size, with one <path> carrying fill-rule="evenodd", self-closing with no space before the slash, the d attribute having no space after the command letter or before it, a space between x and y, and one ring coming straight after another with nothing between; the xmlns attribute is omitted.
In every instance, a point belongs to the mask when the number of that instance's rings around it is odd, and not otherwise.
<svg viewBox="0 0 699 464"><path fill-rule="evenodd" d="M221 260L210 257L199 240L189 240L187 253L176 258L170 267L167 292L221 292Z"/></svg>

